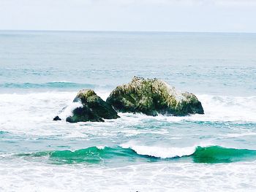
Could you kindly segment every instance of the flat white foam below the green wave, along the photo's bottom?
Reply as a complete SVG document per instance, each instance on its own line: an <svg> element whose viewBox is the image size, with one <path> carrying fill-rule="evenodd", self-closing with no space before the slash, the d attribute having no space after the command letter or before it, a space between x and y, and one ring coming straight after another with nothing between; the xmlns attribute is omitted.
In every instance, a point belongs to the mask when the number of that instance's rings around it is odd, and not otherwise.
<svg viewBox="0 0 256 192"><path fill-rule="evenodd" d="M255 162L108 168L18 159L0 161L0 191L255 191L255 172Z"/></svg>

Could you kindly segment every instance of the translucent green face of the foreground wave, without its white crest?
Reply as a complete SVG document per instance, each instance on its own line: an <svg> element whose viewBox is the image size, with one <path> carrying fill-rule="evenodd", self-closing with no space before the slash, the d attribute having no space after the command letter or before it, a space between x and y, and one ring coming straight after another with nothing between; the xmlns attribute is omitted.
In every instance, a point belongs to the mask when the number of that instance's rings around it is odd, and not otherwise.
<svg viewBox="0 0 256 192"><path fill-rule="evenodd" d="M211 146L196 147L195 151L190 155L184 154L184 156L176 156L173 154L173 157L170 156L169 158L165 158L165 160L178 161L178 158L191 158L191 160L194 161L195 163L217 164L243 160L255 160L255 155L256 150L228 149L219 146ZM140 155L131 148L123 147L89 147L86 149L75 151L53 150L38 153L20 153L18 154L18 156L29 156L34 158L48 156L50 162L53 164L99 164L101 162L104 162L105 164L115 162L116 164L116 159L119 161L124 161L125 164L127 164L127 162L129 161L161 161L161 157L151 155Z"/></svg>

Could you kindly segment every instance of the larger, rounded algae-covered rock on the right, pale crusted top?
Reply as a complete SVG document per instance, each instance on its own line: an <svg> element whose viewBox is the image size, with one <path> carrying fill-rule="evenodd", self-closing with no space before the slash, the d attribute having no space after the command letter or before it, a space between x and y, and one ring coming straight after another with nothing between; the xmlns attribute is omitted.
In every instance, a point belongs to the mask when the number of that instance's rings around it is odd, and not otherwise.
<svg viewBox="0 0 256 192"><path fill-rule="evenodd" d="M194 94L176 91L157 79L134 77L132 82L113 90L107 102L119 112L143 112L153 116L203 114L202 104Z"/></svg>

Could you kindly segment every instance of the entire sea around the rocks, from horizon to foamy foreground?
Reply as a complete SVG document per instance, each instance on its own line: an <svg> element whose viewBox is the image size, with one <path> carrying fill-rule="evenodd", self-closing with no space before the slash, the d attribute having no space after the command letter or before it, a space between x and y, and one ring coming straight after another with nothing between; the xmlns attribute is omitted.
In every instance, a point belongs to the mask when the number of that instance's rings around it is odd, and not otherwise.
<svg viewBox="0 0 256 192"><path fill-rule="evenodd" d="M256 34L0 31L0 191L255 191L255 53ZM135 75L205 115L52 120Z"/></svg>

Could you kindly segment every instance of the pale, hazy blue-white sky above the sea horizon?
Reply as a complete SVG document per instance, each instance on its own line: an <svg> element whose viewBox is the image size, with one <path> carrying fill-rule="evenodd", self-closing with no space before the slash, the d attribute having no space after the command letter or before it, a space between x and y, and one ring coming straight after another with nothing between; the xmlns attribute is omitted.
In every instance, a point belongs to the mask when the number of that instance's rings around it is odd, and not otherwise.
<svg viewBox="0 0 256 192"><path fill-rule="evenodd" d="M256 0L0 0L0 30L256 32Z"/></svg>

